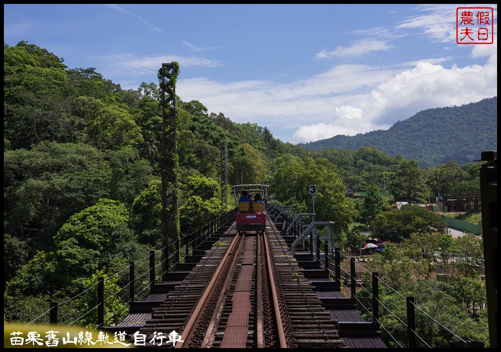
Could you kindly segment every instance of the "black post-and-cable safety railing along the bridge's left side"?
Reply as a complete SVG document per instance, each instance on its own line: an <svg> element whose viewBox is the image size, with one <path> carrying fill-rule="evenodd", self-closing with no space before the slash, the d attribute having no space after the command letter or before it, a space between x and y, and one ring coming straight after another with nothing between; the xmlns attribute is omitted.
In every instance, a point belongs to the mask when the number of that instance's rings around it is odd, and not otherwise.
<svg viewBox="0 0 501 352"><path fill-rule="evenodd" d="M57 323L68 326L86 326L91 329L114 325L130 312L131 304L141 301L162 285L176 265L185 263L205 239L232 221L236 208L221 214L195 231L180 236L168 245L149 250L142 259L112 275L98 272L89 278L85 290L63 302L50 302L28 324Z"/></svg>

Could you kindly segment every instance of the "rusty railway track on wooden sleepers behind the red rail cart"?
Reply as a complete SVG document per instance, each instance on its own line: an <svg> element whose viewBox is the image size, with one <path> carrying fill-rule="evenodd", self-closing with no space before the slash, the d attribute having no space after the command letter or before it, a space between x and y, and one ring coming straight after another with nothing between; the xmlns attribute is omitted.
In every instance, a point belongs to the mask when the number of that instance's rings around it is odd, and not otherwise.
<svg viewBox="0 0 501 352"><path fill-rule="evenodd" d="M211 249L139 329L147 337L138 347L346 347L269 217L264 233L237 234L233 224L209 240Z"/></svg>

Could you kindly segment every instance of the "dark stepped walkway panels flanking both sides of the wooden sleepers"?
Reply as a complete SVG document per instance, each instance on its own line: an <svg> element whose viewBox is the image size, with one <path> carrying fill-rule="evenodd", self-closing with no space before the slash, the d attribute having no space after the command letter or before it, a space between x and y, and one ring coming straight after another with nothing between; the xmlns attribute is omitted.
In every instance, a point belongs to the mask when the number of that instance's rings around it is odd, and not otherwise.
<svg viewBox="0 0 501 352"><path fill-rule="evenodd" d="M293 238L282 236L285 234L284 231L279 230L280 226L274 224L270 215L267 217L269 220L267 221L266 234L277 234L280 241L289 247L288 253L281 252L280 256L294 258L292 262L297 265L297 270L291 272L290 277L281 276L280 280L284 280L284 282L304 281L302 282L302 290L304 291L302 298L307 297L310 301L308 304L313 301L315 304L318 303L321 306L320 309L335 323L336 332L340 339L337 347L387 348L380 338L379 326L373 322L365 321L356 309L356 298L345 297L341 292L341 278L333 278L327 270L321 267L319 261L314 259L309 250L296 248L293 254L290 250ZM172 309L172 307L176 301L188 299L183 291L186 290L186 287L195 284L196 280L193 279L193 275L197 275L194 273L198 272L195 268L199 266L199 270L200 266L206 266L206 261L202 259L220 247L217 243L228 241L228 236L235 235L236 229L232 219L211 237L205 239L193 252L193 255L186 257L185 263L176 264L175 271L167 273L167 280L152 285L151 294L146 300L131 301L129 314L120 323L116 326L106 326L104 329L125 331L130 335L136 331L151 333L160 327L170 329L172 326L167 320L176 318L176 314L185 314ZM274 250L273 248L274 246L272 246L272 250ZM290 260L288 262L291 263ZM300 274L298 275L298 273ZM284 274L281 273L281 275ZM159 312L161 313L159 314ZM310 344L312 345L302 345L302 347L316 347L313 340Z"/></svg>

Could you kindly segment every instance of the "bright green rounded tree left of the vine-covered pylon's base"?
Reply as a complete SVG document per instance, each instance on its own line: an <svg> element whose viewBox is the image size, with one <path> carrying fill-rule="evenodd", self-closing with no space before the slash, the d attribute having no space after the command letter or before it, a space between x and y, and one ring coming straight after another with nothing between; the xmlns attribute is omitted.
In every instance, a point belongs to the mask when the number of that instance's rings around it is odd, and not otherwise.
<svg viewBox="0 0 501 352"><path fill-rule="evenodd" d="M81 279L108 264L119 234L128 223L123 204L101 199L97 204L72 215L54 236L55 250L38 251L7 285L8 294L25 295L63 289L75 293ZM123 239L122 239L123 240Z"/></svg>

